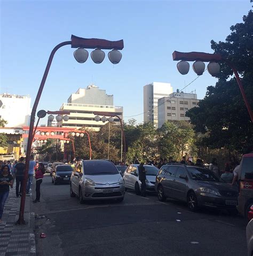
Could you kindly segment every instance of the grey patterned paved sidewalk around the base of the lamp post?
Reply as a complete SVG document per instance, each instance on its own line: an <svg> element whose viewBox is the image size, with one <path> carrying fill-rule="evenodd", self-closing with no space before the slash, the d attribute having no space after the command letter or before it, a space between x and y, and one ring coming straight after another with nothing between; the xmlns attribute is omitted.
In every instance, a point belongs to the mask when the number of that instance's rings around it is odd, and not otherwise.
<svg viewBox="0 0 253 256"><path fill-rule="evenodd" d="M15 195L15 183L10 188L9 197L5 203L3 223L0 224L0 256L36 255L35 247L35 216L31 212L31 194L26 197L26 225L16 225L19 218L20 197Z"/></svg>

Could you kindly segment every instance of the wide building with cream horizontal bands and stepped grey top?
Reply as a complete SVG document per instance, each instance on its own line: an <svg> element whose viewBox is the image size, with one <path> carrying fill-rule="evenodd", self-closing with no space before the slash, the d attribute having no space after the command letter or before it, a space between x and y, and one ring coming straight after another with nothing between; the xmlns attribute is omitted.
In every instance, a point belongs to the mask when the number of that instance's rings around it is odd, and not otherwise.
<svg viewBox="0 0 253 256"><path fill-rule="evenodd" d="M62 127L76 127L80 129L91 129L99 131L99 129L107 122L96 122L93 112L106 111L123 117L123 107L115 107L113 105L113 95L107 95L105 90L99 89L95 85L86 88L79 88L76 93L69 96L68 102L63 103L60 110L70 111L69 120L61 121ZM117 118L114 122L120 124Z"/></svg>

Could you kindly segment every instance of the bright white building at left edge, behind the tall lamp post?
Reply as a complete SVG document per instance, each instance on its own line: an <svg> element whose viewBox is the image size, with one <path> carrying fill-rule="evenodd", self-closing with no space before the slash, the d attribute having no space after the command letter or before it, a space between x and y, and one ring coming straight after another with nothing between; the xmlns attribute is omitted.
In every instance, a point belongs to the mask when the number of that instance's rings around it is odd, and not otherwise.
<svg viewBox="0 0 253 256"><path fill-rule="evenodd" d="M5 127L21 127L29 124L30 96L0 94L0 118L8 123Z"/></svg>

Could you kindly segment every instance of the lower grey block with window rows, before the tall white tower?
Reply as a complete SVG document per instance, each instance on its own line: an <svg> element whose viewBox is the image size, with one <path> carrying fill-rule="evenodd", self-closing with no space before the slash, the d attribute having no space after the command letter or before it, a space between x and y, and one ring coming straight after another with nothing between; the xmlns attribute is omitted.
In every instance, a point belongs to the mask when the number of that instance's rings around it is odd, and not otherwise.
<svg viewBox="0 0 253 256"><path fill-rule="evenodd" d="M176 92L158 100L158 127L168 120L189 121L185 112L199 105L196 93Z"/></svg>

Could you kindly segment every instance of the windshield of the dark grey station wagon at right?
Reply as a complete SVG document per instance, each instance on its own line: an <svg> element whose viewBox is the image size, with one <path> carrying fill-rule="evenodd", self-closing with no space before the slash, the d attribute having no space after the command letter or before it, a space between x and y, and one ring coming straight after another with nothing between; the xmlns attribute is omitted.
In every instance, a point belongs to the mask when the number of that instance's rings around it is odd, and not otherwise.
<svg viewBox="0 0 253 256"><path fill-rule="evenodd" d="M189 174L191 174L191 177L194 180L203 180L205 182L224 182L223 179L220 179L208 169L191 167L187 168L187 170L189 171Z"/></svg>

